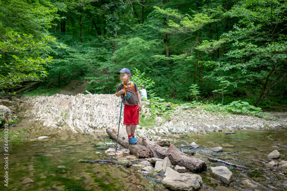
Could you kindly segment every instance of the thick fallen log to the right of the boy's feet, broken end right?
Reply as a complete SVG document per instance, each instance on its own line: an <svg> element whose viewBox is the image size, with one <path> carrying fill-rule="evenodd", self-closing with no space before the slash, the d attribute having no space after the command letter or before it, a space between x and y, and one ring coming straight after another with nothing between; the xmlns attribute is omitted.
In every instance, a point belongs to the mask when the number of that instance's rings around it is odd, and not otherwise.
<svg viewBox="0 0 287 191"><path fill-rule="evenodd" d="M154 152L158 155L158 158L164 159L168 157L172 165L184 166L186 170L192 172L202 172L207 169L206 163L203 160L191 157L188 154L181 152L176 146L170 145L168 148L161 147L156 145L148 137L142 137L143 141L141 145L153 149Z"/></svg>

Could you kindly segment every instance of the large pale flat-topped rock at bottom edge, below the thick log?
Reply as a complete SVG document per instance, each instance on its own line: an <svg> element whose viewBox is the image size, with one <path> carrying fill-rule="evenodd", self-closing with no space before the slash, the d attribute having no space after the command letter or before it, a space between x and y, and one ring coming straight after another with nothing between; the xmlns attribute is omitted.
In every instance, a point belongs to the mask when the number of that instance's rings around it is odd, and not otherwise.
<svg viewBox="0 0 287 191"><path fill-rule="evenodd" d="M193 191L200 188L202 183L201 176L188 173L168 175L162 180L162 184L172 190Z"/></svg>

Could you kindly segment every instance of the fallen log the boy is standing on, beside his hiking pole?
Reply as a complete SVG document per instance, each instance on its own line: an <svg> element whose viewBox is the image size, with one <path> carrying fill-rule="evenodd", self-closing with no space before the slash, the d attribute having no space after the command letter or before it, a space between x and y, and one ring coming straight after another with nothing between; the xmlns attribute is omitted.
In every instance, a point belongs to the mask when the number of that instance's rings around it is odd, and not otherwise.
<svg viewBox="0 0 287 191"><path fill-rule="evenodd" d="M114 127L107 127L106 132L112 139L117 141L118 129ZM139 158L152 157L152 152L150 151L149 148L139 144L130 145L127 138L128 138L127 135L124 135L123 133L119 132L118 144L122 145L126 149L129 149L131 151L131 154L135 155L136 157Z"/></svg>

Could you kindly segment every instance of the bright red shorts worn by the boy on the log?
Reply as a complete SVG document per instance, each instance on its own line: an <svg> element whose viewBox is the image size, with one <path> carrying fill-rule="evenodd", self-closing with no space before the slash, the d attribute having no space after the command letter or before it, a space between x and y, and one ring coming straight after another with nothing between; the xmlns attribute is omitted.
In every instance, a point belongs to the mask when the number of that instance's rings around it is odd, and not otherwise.
<svg viewBox="0 0 287 191"><path fill-rule="evenodd" d="M139 105L125 105L124 107L124 125L138 125L139 124Z"/></svg>

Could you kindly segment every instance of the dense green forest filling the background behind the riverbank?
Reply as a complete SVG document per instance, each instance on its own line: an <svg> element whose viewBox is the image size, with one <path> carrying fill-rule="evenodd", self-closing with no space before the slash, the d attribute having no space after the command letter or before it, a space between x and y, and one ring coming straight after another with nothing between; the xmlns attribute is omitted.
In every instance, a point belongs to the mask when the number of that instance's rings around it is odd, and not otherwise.
<svg viewBox="0 0 287 191"><path fill-rule="evenodd" d="M1 96L75 79L112 94L116 72L129 68L148 96L172 103L287 105L286 8L286 0L0 0Z"/></svg>

